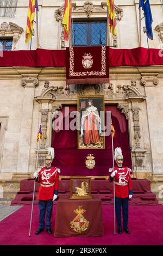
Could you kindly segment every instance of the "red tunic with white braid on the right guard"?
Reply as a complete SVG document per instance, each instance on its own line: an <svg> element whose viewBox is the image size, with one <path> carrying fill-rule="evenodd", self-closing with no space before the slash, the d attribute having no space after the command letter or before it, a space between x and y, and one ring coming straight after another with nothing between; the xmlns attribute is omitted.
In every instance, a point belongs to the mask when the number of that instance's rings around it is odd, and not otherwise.
<svg viewBox="0 0 163 256"><path fill-rule="evenodd" d="M115 196L119 198L126 198L129 196L129 190L133 190L131 176L130 176L130 169L128 167L116 166L114 170L117 170L116 175L114 176ZM110 176L108 180L109 182L113 181L113 179L110 179ZM116 182L121 185L116 184ZM127 184L127 185L124 185L124 184Z"/></svg>

